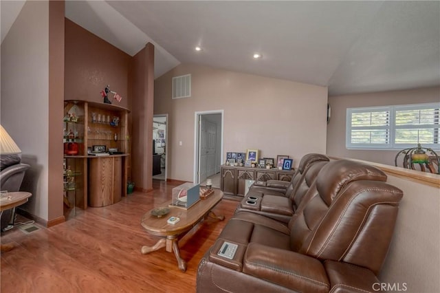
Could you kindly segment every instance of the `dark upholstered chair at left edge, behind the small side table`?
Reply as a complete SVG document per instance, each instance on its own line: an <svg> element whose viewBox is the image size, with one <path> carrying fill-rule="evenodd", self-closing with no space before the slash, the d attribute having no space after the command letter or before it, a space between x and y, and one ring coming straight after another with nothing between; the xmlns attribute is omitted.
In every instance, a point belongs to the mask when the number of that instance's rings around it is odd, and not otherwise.
<svg viewBox="0 0 440 293"><path fill-rule="evenodd" d="M1 155L0 161L0 189L9 192L19 191L25 171L30 166L28 164L21 164L21 159L18 155ZM1 230L7 228L9 224L13 224L14 212L13 208L3 211L1 215Z"/></svg>

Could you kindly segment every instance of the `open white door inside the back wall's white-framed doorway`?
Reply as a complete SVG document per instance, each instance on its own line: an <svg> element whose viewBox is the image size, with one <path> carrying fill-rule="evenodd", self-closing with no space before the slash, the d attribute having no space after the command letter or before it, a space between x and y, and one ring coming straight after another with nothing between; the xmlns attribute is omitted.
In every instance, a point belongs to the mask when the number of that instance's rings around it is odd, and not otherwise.
<svg viewBox="0 0 440 293"><path fill-rule="evenodd" d="M217 125L210 122L204 116L200 116L200 160L199 160L199 182L215 174L215 150L217 140Z"/></svg>

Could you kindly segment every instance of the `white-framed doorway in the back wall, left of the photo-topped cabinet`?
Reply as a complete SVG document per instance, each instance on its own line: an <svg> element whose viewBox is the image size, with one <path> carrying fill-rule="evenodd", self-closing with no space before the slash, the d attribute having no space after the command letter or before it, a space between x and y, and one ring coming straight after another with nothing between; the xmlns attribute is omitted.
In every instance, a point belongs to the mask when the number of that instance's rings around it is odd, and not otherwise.
<svg viewBox="0 0 440 293"><path fill-rule="evenodd" d="M212 178L212 186L219 188L219 166L223 160L223 110L195 112L194 145L193 182L203 184L207 178Z"/></svg>

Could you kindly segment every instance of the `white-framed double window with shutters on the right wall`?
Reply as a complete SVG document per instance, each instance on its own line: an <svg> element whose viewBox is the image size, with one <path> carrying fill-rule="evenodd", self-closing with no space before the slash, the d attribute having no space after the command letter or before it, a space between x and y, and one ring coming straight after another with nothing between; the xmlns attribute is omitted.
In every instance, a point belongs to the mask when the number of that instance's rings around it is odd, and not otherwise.
<svg viewBox="0 0 440 293"><path fill-rule="evenodd" d="M347 109L347 149L439 149L440 103Z"/></svg>

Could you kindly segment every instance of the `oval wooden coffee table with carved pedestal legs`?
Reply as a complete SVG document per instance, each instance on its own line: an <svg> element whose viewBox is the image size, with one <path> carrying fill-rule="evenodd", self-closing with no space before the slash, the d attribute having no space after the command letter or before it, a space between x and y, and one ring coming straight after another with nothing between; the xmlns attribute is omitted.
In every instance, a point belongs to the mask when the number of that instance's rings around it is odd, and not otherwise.
<svg viewBox="0 0 440 293"><path fill-rule="evenodd" d="M148 211L148 213L142 217L142 227L145 228L148 234L159 236L161 239L159 239L154 246L142 246L140 250L142 254L147 254L165 247L167 252L174 252L177 263L179 264L179 269L185 272L186 261L180 257L179 239L184 237L186 232L196 226L199 221L208 217L208 215L223 220L223 216L216 216L211 211L222 198L223 192L219 189L215 189L212 195L206 199L200 199L197 203L188 208L188 210L168 206L168 204L171 204L171 201L169 201L162 204L162 206L166 206L170 209L170 213L164 215L164 217L154 217L151 215L151 210ZM166 221L173 216L179 217L180 221L174 225L168 224Z"/></svg>

